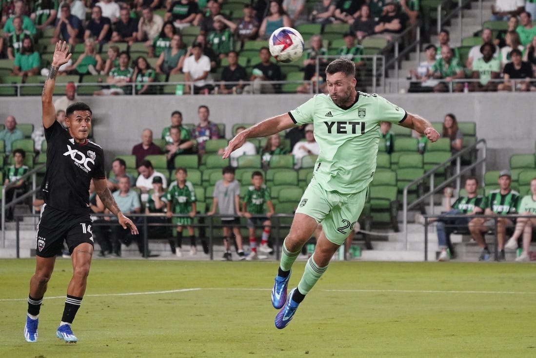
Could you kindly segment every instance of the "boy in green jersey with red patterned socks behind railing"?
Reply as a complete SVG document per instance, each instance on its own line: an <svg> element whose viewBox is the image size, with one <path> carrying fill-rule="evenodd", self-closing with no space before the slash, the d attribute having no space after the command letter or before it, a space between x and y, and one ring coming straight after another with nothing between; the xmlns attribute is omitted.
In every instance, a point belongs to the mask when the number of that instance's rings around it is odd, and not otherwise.
<svg viewBox="0 0 536 358"><path fill-rule="evenodd" d="M249 246L251 252L247 258L248 261L265 259L266 256L257 255L257 238L255 237L255 227L263 225L263 235L260 241L260 251L272 253L273 249L268 246L268 238L270 237L270 229L272 222L270 217L274 213L272 200L270 199L270 189L264 184L263 174L255 171L251 174L251 185L248 192L245 194L244 202L242 203L242 213L248 218L249 229ZM264 204L268 207L268 212L264 211ZM252 217L254 216L255 217ZM265 215L265 216L261 216Z"/></svg>

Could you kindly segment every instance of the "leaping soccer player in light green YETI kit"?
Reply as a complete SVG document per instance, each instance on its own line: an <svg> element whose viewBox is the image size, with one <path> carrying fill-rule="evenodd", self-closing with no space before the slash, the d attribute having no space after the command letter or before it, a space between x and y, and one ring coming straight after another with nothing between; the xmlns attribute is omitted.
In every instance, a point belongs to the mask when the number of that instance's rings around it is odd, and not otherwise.
<svg viewBox="0 0 536 358"><path fill-rule="evenodd" d="M354 77L352 61L334 60L326 68L329 95L317 94L293 111L242 131L229 142L224 153L224 158L229 157L248 138L269 136L305 123L315 126L320 154L314 176L303 193L282 245L279 271L272 289L272 305L281 309L275 320L279 329L291 321L361 214L376 170L380 123L388 121L415 129L430 142L440 137L430 122L420 116L407 113L377 94L357 92ZM323 230L316 250L307 261L297 288L287 298L291 267L318 223L322 223Z"/></svg>

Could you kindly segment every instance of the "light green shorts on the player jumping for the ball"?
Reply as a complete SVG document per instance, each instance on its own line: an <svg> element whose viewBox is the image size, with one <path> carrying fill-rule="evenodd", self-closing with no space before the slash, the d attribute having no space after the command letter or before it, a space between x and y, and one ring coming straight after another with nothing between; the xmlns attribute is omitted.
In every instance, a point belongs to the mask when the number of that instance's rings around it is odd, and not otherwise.
<svg viewBox="0 0 536 358"><path fill-rule="evenodd" d="M366 200L367 189L354 194L327 192L312 178L296 213L314 218L322 224L330 242L342 245L361 215Z"/></svg>

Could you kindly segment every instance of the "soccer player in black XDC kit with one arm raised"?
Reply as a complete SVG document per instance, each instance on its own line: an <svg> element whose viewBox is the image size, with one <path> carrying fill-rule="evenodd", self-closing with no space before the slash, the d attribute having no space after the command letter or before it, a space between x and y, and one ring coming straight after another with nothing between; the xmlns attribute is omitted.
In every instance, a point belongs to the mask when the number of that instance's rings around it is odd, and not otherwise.
<svg viewBox="0 0 536 358"><path fill-rule="evenodd" d="M38 316L47 290L56 253L67 243L71 253L73 275L67 288L67 298L56 337L76 343L71 323L80 307L90 272L93 254L89 187L93 179L95 190L102 203L117 215L120 225L137 234L132 221L121 213L107 185L102 148L87 140L90 133L92 112L84 103L73 103L67 108L65 123L67 130L56 121L56 109L52 94L58 68L69 61L69 46L56 43L52 67L41 95L43 106L44 135L47 140L47 171L41 190L44 205L36 235L35 274L30 280L28 314L24 338L35 342L38 338Z"/></svg>

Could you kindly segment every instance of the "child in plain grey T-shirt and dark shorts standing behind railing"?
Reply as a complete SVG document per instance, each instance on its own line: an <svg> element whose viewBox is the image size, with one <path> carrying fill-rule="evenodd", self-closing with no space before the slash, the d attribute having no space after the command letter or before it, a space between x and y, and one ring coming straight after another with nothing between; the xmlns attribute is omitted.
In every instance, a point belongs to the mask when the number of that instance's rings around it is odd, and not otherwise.
<svg viewBox="0 0 536 358"><path fill-rule="evenodd" d="M242 248L242 234L240 233L240 183L235 180L235 169L232 166L226 166L222 169L223 179L218 180L212 191L212 209L206 215L214 215L216 207L220 215L230 215L221 217L222 231L224 234L224 257L222 260L232 261L230 251L231 231L236 240L236 251L240 260L245 259Z"/></svg>

